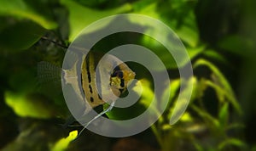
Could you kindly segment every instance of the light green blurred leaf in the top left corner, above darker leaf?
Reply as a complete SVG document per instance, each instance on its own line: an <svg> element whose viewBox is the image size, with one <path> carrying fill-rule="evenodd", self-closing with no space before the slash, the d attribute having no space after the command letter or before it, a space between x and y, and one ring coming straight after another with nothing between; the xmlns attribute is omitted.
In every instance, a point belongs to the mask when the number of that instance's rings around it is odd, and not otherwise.
<svg viewBox="0 0 256 151"><path fill-rule="evenodd" d="M46 29L54 29L57 24L50 19L49 6L42 2L37 1L35 3L32 0L0 0L0 15L32 20ZM27 30L28 28L25 29Z"/></svg>

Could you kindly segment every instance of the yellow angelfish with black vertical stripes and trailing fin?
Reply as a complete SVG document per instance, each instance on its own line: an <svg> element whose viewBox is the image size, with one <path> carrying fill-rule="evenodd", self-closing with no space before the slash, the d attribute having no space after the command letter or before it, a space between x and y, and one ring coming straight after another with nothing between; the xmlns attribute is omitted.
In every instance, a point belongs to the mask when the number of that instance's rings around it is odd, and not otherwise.
<svg viewBox="0 0 256 151"><path fill-rule="evenodd" d="M84 101L83 115L99 105L111 103L108 109L103 110L102 113L86 123L85 128L90 122L113 108L116 99L125 92L136 74L127 64L111 54L106 54L103 58L100 53L89 52L85 55L71 52L71 54L76 56L73 58L72 69L60 69L59 72L51 64L40 62L38 63L38 76L44 77L45 72L48 76L61 76L62 86L70 84L79 100ZM55 70L51 72L52 69Z"/></svg>

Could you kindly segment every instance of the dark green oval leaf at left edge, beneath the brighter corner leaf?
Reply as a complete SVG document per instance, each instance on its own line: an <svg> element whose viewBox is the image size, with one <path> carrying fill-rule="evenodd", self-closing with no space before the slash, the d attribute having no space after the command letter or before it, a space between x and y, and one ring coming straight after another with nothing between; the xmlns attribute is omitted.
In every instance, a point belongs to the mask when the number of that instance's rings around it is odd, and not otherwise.
<svg viewBox="0 0 256 151"><path fill-rule="evenodd" d="M44 33L44 28L32 21L19 21L0 31L0 48L15 52L30 48Z"/></svg>

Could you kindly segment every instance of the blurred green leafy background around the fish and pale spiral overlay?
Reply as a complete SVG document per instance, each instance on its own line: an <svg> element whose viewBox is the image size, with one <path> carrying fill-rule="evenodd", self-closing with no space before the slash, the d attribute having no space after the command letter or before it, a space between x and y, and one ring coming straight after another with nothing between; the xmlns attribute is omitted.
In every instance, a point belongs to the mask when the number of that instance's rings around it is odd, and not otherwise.
<svg viewBox="0 0 256 151"><path fill-rule="evenodd" d="M253 0L0 0L1 150L256 150L255 6ZM84 131L71 142L73 130L81 127L61 126L70 115L61 83L38 82L37 64L44 60L61 66L67 51L61 46L73 42L86 25L124 13L145 14L172 28L188 50L194 77L180 79L172 56L147 36L104 38L95 46L102 52L120 43L153 50L170 74L170 104L160 120L136 136L109 138ZM139 20L131 24L143 26ZM154 86L143 67L131 64L131 69L143 83L132 110L140 113ZM180 81L193 84L193 95L182 119L170 126ZM108 117L129 114L129 109L113 109Z"/></svg>

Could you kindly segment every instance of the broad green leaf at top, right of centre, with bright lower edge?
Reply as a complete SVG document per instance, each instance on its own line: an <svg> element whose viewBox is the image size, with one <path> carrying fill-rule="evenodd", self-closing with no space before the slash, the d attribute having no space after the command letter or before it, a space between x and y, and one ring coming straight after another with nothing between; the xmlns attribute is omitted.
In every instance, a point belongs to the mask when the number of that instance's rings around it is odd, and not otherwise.
<svg viewBox="0 0 256 151"><path fill-rule="evenodd" d="M134 6L136 14L145 14L154 19L160 20L168 25L179 38L195 48L199 43L199 31L197 28L193 5L188 5L188 2L173 2L172 3L145 3L143 7ZM141 3L135 3L139 5ZM183 9L189 6L188 9ZM181 23L179 23L181 22ZM137 20L140 25L145 25L143 20ZM180 24L180 25L178 25ZM164 35L163 35L164 36Z"/></svg>

